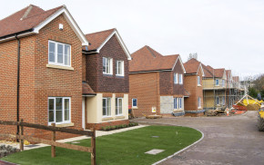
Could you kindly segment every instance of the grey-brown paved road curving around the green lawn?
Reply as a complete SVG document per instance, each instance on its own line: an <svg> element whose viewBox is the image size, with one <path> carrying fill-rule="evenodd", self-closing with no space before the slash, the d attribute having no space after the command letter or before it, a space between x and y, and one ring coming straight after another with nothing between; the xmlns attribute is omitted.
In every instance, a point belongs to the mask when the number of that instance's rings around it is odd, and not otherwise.
<svg viewBox="0 0 264 165"><path fill-rule="evenodd" d="M257 112L135 121L188 126L204 132L205 137L198 144L161 164L264 164L264 132L257 129Z"/></svg>

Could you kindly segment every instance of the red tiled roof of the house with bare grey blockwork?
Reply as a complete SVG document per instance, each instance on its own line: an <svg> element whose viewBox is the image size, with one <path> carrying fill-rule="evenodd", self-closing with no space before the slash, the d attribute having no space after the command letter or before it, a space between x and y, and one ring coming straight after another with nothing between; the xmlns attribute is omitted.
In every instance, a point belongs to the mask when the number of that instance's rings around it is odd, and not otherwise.
<svg viewBox="0 0 264 165"><path fill-rule="evenodd" d="M132 53L129 72L171 70L178 59L178 54L163 56L149 46L144 46Z"/></svg>

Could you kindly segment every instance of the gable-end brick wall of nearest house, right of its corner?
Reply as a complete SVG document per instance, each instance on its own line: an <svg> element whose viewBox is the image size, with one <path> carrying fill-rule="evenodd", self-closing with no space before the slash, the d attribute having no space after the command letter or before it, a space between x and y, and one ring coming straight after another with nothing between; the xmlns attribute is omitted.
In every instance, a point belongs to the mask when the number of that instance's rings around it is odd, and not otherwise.
<svg viewBox="0 0 264 165"><path fill-rule="evenodd" d="M58 29L64 24L64 29ZM71 44L74 71L47 68L48 40ZM82 44L63 15L40 30L36 36L36 102L35 123L47 124L47 99L52 96L71 97L71 121L74 129L82 127Z"/></svg>

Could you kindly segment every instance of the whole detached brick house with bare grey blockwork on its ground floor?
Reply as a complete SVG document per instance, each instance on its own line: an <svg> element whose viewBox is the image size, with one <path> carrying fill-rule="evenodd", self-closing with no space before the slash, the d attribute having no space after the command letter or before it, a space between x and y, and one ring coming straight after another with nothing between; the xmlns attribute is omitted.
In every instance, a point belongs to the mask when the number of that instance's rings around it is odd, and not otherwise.
<svg viewBox="0 0 264 165"><path fill-rule="evenodd" d="M186 72L180 56L164 56L147 45L131 56L129 105L134 114L183 115Z"/></svg>

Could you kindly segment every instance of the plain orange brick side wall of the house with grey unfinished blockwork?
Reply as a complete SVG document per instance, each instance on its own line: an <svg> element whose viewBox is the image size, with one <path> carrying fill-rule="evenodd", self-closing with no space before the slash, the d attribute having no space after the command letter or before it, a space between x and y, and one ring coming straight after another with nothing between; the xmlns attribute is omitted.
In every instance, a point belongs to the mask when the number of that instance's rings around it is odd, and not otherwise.
<svg viewBox="0 0 264 165"><path fill-rule="evenodd" d="M137 99L137 108L133 109L134 114L139 117L149 114L152 107L159 110L159 73L130 73L129 74L129 105L132 105L132 98Z"/></svg>

